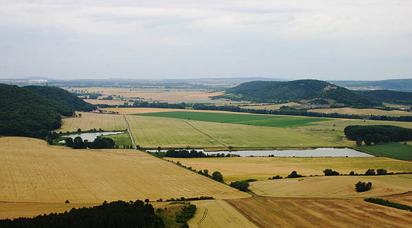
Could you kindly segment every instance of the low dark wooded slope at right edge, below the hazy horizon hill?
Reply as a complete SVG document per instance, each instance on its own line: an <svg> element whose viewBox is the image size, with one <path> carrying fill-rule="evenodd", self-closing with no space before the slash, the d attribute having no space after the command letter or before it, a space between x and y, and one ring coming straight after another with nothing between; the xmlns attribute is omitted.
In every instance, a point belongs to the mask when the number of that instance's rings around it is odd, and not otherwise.
<svg viewBox="0 0 412 228"><path fill-rule="evenodd" d="M380 102L387 102L391 104L412 104L412 93L411 92L400 92L391 90L367 90L367 91L356 91L361 95L368 97L371 100L376 100Z"/></svg>

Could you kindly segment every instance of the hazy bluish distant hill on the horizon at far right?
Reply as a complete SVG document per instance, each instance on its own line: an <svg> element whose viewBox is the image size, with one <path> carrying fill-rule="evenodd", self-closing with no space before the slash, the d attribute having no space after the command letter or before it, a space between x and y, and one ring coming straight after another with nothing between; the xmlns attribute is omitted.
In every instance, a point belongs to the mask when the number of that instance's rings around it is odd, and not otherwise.
<svg viewBox="0 0 412 228"><path fill-rule="evenodd" d="M412 78L409 79L390 79L380 81L330 81L341 87L350 89L388 89L403 92L412 92Z"/></svg>

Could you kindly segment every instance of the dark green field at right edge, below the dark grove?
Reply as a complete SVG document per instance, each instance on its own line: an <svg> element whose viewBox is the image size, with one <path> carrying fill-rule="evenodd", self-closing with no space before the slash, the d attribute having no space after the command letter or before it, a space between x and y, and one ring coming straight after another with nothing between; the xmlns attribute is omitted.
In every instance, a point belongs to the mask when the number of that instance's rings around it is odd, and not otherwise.
<svg viewBox="0 0 412 228"><path fill-rule="evenodd" d="M393 159L412 161L412 146L407 144L392 142L389 144L361 146L361 149Z"/></svg>

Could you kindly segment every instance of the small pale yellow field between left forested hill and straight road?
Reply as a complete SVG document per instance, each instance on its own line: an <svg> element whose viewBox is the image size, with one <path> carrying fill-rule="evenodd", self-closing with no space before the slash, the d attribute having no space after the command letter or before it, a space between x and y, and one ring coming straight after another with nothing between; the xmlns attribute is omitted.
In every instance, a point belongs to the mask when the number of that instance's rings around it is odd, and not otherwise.
<svg viewBox="0 0 412 228"><path fill-rule="evenodd" d="M103 130L124 130L126 123L122 115L99 114L99 113L81 113L82 117L69 117L62 119L62 127L55 130L56 132L74 132L78 128L90 130L92 128L102 128Z"/></svg>

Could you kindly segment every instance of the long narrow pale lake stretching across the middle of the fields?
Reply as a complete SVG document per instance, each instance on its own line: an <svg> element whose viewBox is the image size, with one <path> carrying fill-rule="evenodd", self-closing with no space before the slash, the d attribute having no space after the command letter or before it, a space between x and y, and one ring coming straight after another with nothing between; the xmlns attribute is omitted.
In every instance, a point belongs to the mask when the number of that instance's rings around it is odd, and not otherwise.
<svg viewBox="0 0 412 228"><path fill-rule="evenodd" d="M275 157L375 157L365 152L359 152L350 148L317 148L313 150L238 150L238 151L214 151L205 152L205 150L196 149L202 151L207 155L216 155L217 153L223 153L227 155L239 155L240 157L268 157L273 155ZM157 152L157 150L146 150L148 152ZM167 150L161 150L166 152Z"/></svg>

